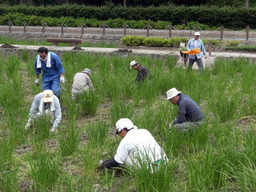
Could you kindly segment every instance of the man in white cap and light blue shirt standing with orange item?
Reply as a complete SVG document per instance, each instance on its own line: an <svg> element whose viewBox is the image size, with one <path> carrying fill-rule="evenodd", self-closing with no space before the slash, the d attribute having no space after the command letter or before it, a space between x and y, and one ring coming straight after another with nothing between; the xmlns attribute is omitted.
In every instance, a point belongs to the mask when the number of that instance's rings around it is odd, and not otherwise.
<svg viewBox="0 0 256 192"><path fill-rule="evenodd" d="M206 55L206 48L203 45L202 40L199 39L199 37L200 37L200 33L195 32L194 38L191 38L186 46L187 50L193 50L193 49L199 48L202 51L199 54L190 54L189 55L189 68L190 69L192 69L194 62L197 62L198 69L203 70L202 54Z"/></svg>

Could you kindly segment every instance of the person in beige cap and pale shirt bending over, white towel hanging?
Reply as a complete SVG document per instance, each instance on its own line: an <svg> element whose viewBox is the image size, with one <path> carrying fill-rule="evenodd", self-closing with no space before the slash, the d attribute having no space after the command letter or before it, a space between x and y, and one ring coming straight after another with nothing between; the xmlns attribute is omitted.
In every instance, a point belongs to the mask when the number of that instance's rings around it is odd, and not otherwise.
<svg viewBox="0 0 256 192"><path fill-rule="evenodd" d="M54 95L52 90L44 90L34 97L34 102L30 108L30 118L26 122L25 130L30 128L34 118L42 117L43 115L47 115L51 118L53 126L50 132L54 132L59 122L62 120L62 110L58 98Z"/></svg>

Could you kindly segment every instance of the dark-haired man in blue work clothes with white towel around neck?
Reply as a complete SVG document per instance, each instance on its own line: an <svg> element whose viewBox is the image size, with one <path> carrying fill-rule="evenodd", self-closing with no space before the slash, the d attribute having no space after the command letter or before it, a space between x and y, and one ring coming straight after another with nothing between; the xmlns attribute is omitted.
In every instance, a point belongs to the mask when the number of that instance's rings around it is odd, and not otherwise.
<svg viewBox="0 0 256 192"><path fill-rule="evenodd" d="M52 90L54 94L60 96L59 83L64 83L64 69L57 54L49 52L46 47L38 49L38 56L34 62L35 84L39 85L39 74L42 70L42 90Z"/></svg>

